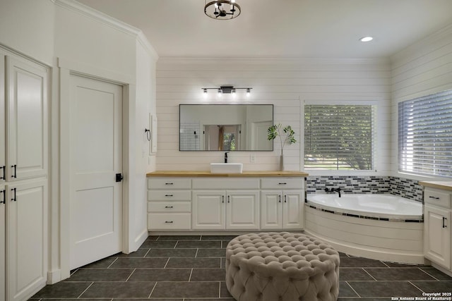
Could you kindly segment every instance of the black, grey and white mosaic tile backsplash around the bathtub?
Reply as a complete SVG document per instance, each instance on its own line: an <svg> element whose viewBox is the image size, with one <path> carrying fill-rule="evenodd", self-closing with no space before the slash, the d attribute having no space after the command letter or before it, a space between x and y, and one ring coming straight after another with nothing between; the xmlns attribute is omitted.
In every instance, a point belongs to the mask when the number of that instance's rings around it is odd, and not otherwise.
<svg viewBox="0 0 452 301"><path fill-rule="evenodd" d="M309 176L307 193L325 193L340 188L344 193L389 193L422 202L423 190L417 180L391 176Z"/></svg>

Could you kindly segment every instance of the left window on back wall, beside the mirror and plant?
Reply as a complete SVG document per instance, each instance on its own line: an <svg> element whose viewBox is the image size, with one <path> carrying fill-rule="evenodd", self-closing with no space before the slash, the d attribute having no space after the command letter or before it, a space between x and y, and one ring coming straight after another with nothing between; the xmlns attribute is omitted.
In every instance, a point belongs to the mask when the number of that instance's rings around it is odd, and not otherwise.
<svg viewBox="0 0 452 301"><path fill-rule="evenodd" d="M374 106L305 105L304 168L373 168Z"/></svg>

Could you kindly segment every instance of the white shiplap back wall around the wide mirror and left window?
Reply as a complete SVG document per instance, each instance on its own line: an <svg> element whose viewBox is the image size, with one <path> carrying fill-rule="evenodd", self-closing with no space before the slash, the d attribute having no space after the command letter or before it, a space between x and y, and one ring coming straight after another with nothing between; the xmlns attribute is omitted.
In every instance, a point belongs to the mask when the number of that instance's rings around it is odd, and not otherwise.
<svg viewBox="0 0 452 301"><path fill-rule="evenodd" d="M207 98L201 88L234 85L252 87L251 97L237 92L219 99L213 90ZM208 170L221 162L223 152L179 152L179 104L273 104L274 122L292 125L297 143L286 146L286 170L302 170L304 100L374 100L378 102L376 169L387 174L390 149L391 66L388 60L340 59L187 59L157 61L157 170ZM301 143L300 143L301 142ZM273 152L233 152L230 161L244 170L275 171L280 146ZM250 156L256 157L251 163ZM362 174L362 173L360 173ZM371 173L371 174L376 174Z"/></svg>

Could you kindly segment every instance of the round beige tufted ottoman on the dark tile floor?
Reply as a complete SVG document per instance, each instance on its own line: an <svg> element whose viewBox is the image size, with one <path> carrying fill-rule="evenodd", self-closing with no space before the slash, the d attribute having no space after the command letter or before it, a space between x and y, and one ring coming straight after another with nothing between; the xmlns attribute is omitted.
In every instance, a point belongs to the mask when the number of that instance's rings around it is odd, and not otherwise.
<svg viewBox="0 0 452 301"><path fill-rule="evenodd" d="M237 301L329 301L339 294L339 253L301 233L250 233L226 248L226 286Z"/></svg>

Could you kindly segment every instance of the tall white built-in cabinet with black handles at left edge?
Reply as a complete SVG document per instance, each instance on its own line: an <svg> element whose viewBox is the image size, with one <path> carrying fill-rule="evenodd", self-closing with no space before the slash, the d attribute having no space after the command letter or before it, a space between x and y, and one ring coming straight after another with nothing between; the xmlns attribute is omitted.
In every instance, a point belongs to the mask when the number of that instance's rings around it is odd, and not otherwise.
<svg viewBox="0 0 452 301"><path fill-rule="evenodd" d="M0 49L0 301L47 281L48 68Z"/></svg>

